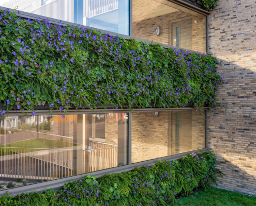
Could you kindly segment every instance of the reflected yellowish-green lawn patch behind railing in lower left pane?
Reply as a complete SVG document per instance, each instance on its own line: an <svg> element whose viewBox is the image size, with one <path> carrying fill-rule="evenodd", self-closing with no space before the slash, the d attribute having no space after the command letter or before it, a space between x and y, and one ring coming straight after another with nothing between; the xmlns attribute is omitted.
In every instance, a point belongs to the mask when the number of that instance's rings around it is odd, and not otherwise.
<svg viewBox="0 0 256 206"><path fill-rule="evenodd" d="M77 144L72 144L68 142L62 142L62 141L56 141L56 140L49 140L49 139L43 139L43 138L35 138L31 140L25 140L25 141L20 141L20 142L14 142L6 145L1 145L0 146L0 156L4 155L11 155L12 151L14 153L23 153L24 150L21 149L14 149L15 148L37 148L39 150L43 149L58 149L58 148L64 148L64 147L70 147L70 146L76 146ZM11 147L13 149L2 149L1 152L1 147ZM27 152L27 150L25 150Z"/></svg>

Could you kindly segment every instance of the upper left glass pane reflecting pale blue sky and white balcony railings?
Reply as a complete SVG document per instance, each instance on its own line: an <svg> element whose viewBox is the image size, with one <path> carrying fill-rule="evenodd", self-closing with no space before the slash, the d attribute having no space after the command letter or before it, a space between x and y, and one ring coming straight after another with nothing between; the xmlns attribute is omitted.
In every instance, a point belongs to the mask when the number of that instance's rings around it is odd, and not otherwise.
<svg viewBox="0 0 256 206"><path fill-rule="evenodd" d="M0 6L129 35L129 0L1 0Z"/></svg>

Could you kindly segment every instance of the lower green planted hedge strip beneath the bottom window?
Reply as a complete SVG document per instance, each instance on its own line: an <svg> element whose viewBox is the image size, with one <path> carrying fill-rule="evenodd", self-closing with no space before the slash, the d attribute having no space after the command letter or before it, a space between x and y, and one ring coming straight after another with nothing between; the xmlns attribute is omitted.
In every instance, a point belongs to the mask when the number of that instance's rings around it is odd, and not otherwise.
<svg viewBox="0 0 256 206"><path fill-rule="evenodd" d="M192 153L178 161L158 161L122 174L98 179L88 175L65 183L58 193L6 195L0 205L173 205L176 196L216 183L222 173L215 163L212 152Z"/></svg>

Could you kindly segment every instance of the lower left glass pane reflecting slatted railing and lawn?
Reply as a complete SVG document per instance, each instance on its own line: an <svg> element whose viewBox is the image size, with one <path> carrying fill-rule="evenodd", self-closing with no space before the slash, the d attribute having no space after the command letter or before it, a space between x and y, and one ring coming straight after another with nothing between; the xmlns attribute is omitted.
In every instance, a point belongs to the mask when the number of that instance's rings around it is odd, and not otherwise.
<svg viewBox="0 0 256 206"><path fill-rule="evenodd" d="M126 165L127 117L127 113L69 114L65 119L0 117L0 185L6 189Z"/></svg>

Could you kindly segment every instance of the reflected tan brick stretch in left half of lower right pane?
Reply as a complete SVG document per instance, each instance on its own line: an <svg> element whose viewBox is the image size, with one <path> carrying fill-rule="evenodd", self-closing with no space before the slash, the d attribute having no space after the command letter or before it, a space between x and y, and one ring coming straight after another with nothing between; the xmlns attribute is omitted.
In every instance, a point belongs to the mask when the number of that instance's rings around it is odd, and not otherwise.
<svg viewBox="0 0 256 206"><path fill-rule="evenodd" d="M167 156L168 154L168 113L132 113L131 162L141 162Z"/></svg>

